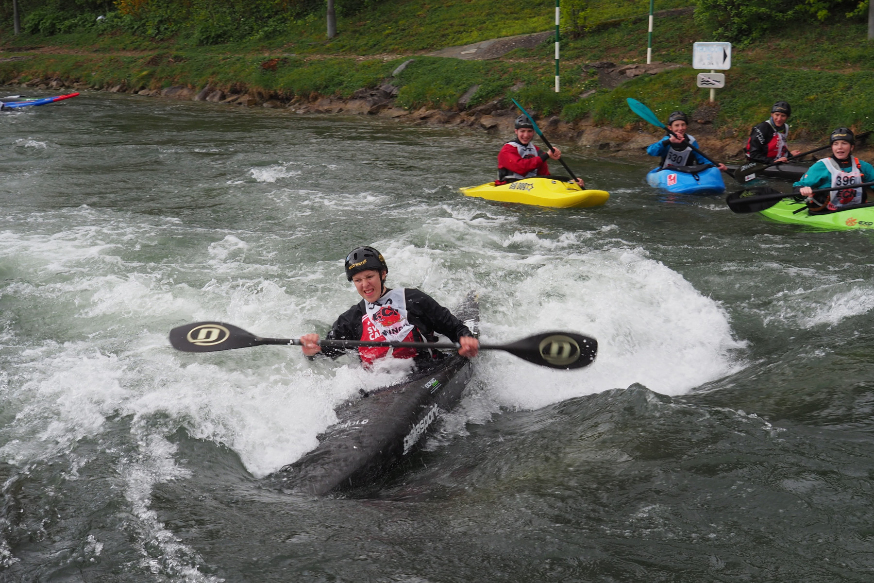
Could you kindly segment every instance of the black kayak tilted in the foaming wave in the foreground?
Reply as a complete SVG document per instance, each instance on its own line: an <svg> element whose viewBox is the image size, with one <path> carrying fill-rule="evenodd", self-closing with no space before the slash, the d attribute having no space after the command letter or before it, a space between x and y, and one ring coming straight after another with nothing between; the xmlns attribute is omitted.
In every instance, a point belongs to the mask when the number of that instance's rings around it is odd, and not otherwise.
<svg viewBox="0 0 874 583"><path fill-rule="evenodd" d="M454 314L478 333L474 294ZM320 496L374 482L416 451L440 416L461 400L472 373L470 360L454 353L395 385L343 403L336 408L336 424L318 436L316 449L266 481L283 491Z"/></svg>

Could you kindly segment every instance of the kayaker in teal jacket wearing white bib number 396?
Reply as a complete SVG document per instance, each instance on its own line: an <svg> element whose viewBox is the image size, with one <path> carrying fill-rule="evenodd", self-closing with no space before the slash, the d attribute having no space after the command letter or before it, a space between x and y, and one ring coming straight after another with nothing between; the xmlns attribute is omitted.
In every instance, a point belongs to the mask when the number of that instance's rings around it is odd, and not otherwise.
<svg viewBox="0 0 874 583"><path fill-rule="evenodd" d="M864 188L847 188L842 191L813 194L818 188L851 186L874 182L874 167L852 156L856 136L848 128L837 128L829 136L831 156L818 160L801 180L793 184L794 192L808 198L810 212L840 211L850 205L867 201Z"/></svg>

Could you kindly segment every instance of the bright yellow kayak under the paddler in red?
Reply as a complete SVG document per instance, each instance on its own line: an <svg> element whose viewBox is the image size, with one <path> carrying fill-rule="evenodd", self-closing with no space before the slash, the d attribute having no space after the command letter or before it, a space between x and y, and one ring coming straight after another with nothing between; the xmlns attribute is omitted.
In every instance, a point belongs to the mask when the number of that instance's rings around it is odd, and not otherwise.
<svg viewBox="0 0 874 583"><path fill-rule="evenodd" d="M547 177L523 178L509 184L495 183L462 188L466 197L479 197L502 203L552 206L559 209L572 206L599 206L607 202L606 191L584 191L578 184L552 180Z"/></svg>

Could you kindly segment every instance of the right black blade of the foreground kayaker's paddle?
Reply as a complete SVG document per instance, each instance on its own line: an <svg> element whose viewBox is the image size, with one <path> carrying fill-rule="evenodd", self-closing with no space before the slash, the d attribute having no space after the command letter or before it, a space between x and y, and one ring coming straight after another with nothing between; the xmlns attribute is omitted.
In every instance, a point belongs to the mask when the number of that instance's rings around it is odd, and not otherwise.
<svg viewBox="0 0 874 583"><path fill-rule="evenodd" d="M566 370L592 364L598 354L598 341L573 332L544 332L496 348L530 363Z"/></svg>

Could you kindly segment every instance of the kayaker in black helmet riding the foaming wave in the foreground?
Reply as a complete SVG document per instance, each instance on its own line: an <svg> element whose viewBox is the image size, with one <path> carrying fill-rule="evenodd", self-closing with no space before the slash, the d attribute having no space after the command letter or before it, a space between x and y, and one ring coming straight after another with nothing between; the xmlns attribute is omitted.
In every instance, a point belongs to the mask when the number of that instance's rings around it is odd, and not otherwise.
<svg viewBox="0 0 874 583"><path fill-rule="evenodd" d="M461 344L458 353L462 357L472 358L479 352L480 344L468 327L433 297L415 288L386 288L388 265L373 247L353 249L346 256L344 269L346 279L355 284L364 299L336 319L329 340L437 342L437 332ZM307 357L322 352L336 358L346 352L343 348L319 346L318 334L306 334L301 341ZM383 357L415 358L420 365L442 357L436 350L388 347L360 347L358 356L367 367Z"/></svg>

